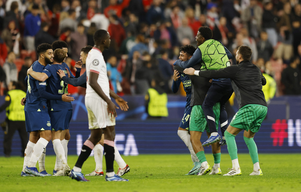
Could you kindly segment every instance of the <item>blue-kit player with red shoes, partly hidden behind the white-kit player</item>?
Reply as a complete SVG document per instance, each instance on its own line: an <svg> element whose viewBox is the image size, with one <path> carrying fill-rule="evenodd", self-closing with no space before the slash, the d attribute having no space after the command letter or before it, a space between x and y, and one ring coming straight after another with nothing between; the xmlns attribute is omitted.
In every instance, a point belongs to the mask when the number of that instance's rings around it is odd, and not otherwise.
<svg viewBox="0 0 301 192"><path fill-rule="evenodd" d="M86 46L83 47L80 51L80 57L79 57L79 62L82 63L82 65L86 64L86 59L88 56L89 51L92 49L92 46ZM77 62L77 63L79 63ZM81 68L77 68L77 72L80 72ZM87 75L86 75L86 71L78 78L68 78L67 76L65 76L65 73L62 70L59 70L57 72L57 74L59 74L59 76L61 77L61 79L64 82L67 82L70 85L73 86L81 86L84 88L87 88ZM116 101L116 103L119 105L121 110L127 111L128 110L128 105L127 102L124 101L122 98L120 98L117 94L115 94L112 90L110 90L110 96L113 97ZM93 148L94 150L94 159L95 159L95 170L85 176L103 176L104 172L102 170L102 158L103 158L103 148L102 146L104 146L104 134L101 136L101 140L95 145L95 147ZM122 157L119 154L119 151L117 149L117 147L114 145L114 155L115 155L115 161L118 164L119 168L118 171L116 173L116 175L124 175L127 172L129 172L130 167L124 162L124 160L122 159ZM122 168L124 167L124 168Z"/></svg>

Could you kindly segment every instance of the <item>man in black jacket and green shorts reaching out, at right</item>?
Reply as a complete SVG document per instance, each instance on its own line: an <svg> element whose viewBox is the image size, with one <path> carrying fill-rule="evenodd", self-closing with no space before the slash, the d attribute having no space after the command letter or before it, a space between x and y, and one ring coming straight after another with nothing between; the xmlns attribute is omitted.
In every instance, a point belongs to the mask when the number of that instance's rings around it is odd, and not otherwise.
<svg viewBox="0 0 301 192"><path fill-rule="evenodd" d="M225 131L228 152L232 160L232 169L225 174L226 176L241 175L235 136L242 130L245 130L244 141L247 144L253 161L253 172L250 175L262 175L254 135L259 131L260 125L267 113L267 104L262 91L262 85L266 84L266 80L260 69L250 62L251 55L252 50L250 47L240 46L235 57L237 65L211 71L196 71L193 68L184 70L184 73L189 75L210 78L231 78L234 85L239 110Z"/></svg>

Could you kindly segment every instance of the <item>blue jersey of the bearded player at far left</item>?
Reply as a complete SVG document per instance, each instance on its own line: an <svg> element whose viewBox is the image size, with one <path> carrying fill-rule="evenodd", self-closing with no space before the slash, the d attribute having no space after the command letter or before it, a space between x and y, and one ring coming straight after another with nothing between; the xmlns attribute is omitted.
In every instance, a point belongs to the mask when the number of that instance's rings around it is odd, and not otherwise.
<svg viewBox="0 0 301 192"><path fill-rule="evenodd" d="M33 71L42 72L45 68L38 61L33 63ZM40 82L28 75L27 79L27 92L26 92L26 104L24 111L47 111L47 100L40 98L38 89L46 88L46 81Z"/></svg>

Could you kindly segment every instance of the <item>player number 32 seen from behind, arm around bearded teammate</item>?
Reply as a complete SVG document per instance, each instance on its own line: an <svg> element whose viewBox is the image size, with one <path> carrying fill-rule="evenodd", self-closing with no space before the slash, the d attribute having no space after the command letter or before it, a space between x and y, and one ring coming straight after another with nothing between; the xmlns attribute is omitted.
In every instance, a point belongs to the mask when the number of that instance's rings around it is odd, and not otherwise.
<svg viewBox="0 0 301 192"><path fill-rule="evenodd" d="M67 74L65 68L69 70L69 67L66 63L63 63L66 57L67 53L63 49L56 49L53 57L54 63L52 65L47 65L43 70L43 73L37 73L30 70L28 73L37 80L48 79L48 85L46 87L47 92L56 95L66 94L68 93L68 84L61 81L60 77L56 73L57 70L63 69L65 74ZM70 168L67 164L65 150L61 140L64 140L66 130L69 129L69 122L72 117L72 104L50 100L48 105L48 113L50 119L52 119L52 144L54 152L61 161L60 169L54 175L68 175ZM65 143L66 142L64 141L64 144Z"/></svg>

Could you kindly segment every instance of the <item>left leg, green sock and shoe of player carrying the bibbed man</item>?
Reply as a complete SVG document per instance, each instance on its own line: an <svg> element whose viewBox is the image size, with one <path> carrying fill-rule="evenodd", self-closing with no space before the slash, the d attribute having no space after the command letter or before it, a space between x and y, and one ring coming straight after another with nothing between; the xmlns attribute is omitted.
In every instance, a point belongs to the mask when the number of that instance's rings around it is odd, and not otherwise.
<svg viewBox="0 0 301 192"><path fill-rule="evenodd" d="M201 163L201 167L200 167L197 175L205 175L211 170L211 167L209 166L209 164L206 161L204 147L202 146L202 143L200 141L201 136L202 136L202 132L190 131L190 141L191 141L194 153L197 155L197 158L200 160L200 163Z"/></svg>

